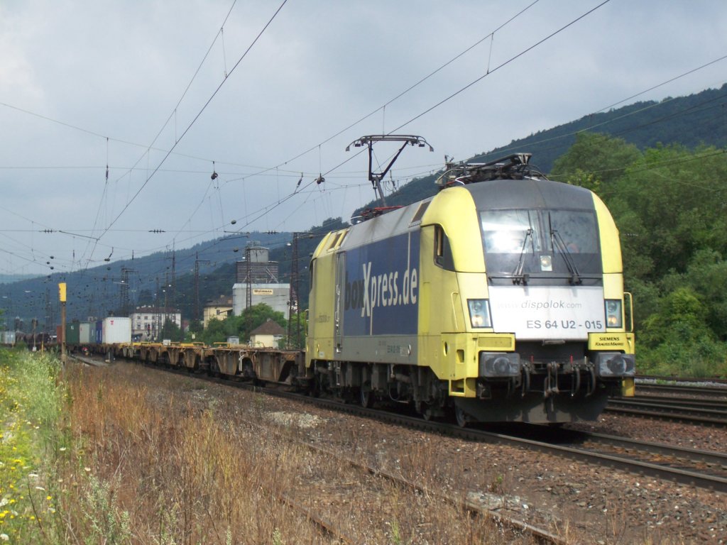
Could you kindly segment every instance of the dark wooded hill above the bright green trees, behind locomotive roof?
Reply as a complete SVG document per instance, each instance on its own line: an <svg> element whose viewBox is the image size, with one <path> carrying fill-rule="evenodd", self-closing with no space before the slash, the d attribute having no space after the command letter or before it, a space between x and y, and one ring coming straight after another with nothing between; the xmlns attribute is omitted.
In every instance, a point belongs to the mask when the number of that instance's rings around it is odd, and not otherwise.
<svg viewBox="0 0 727 545"><path fill-rule="evenodd" d="M727 145L727 84L720 89L707 89L688 97L667 97L661 102L634 104L583 116L552 129L467 159L482 163L509 153L532 153L532 163L543 172L553 169L555 160L566 153L579 132L590 131L619 137L640 150L656 145L677 143L689 149L700 144L723 148ZM436 193L436 174L417 178L386 198L387 205L405 205ZM379 206L371 201L363 209ZM358 214L358 211L356 212Z"/></svg>

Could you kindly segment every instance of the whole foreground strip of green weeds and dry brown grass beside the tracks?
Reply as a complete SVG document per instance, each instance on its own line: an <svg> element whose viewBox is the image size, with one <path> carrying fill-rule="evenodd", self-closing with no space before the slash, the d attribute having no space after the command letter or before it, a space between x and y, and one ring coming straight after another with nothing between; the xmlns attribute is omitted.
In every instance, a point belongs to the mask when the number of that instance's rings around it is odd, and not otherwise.
<svg viewBox="0 0 727 545"><path fill-rule="evenodd" d="M63 369L49 355L0 351L0 545L6 537L12 544L337 543L284 498L362 543L529 543L428 492L466 493L465 472L480 472L483 491L507 496L512 477L502 469L442 463L446 453L425 435L399 453L385 447L379 459L374 426L332 437L310 419L278 418L285 413L271 410L270 398L209 395L202 384L123 363ZM427 492L301 444L316 437L347 458L374 456ZM611 528L616 541L621 515Z"/></svg>

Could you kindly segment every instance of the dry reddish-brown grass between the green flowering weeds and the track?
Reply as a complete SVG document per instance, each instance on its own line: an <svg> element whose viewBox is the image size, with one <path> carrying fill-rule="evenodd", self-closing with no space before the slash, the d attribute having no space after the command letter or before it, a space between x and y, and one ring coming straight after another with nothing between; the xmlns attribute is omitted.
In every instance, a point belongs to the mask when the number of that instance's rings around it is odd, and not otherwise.
<svg viewBox="0 0 727 545"><path fill-rule="evenodd" d="M135 382L140 373L149 375L121 364L66 376L72 445L57 478L59 533L71 541L335 543L283 501L292 498L361 542L507 542L487 520L301 445L301 422L273 421L269 399L236 392L201 400L204 389L184 381L180 389L177 377L147 386ZM350 442L354 451L375 450L376 437L360 439ZM401 466L437 485L438 463L425 448L411 449Z"/></svg>

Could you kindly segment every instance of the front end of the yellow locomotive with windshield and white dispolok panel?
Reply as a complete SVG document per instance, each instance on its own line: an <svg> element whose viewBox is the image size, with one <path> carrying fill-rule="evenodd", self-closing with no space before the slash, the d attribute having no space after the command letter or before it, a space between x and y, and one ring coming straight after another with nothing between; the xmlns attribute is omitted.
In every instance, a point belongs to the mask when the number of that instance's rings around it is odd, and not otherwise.
<svg viewBox="0 0 727 545"><path fill-rule="evenodd" d="M458 418L596 419L608 395L624 385L632 392L635 371L631 299L611 214L589 190L542 175L494 177L464 190L478 240L452 237L451 261L480 246L486 288L457 273L460 287L469 286L467 331L478 343L477 379L465 379L464 396L455 392Z"/></svg>

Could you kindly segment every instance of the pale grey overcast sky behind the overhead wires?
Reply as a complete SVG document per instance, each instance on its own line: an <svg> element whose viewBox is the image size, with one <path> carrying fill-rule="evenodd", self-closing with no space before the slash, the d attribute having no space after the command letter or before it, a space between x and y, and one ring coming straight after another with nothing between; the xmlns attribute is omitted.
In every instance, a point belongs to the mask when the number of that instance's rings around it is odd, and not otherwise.
<svg viewBox="0 0 727 545"><path fill-rule="evenodd" d="M364 134L430 142L403 183L727 81L719 60L619 103L727 55L721 0L281 1L0 0L0 273L348 219Z"/></svg>

